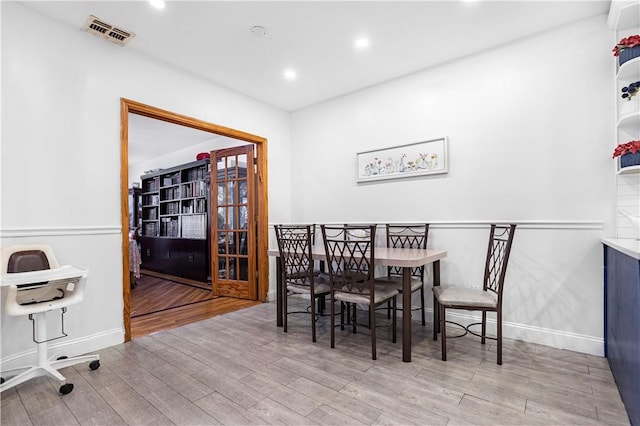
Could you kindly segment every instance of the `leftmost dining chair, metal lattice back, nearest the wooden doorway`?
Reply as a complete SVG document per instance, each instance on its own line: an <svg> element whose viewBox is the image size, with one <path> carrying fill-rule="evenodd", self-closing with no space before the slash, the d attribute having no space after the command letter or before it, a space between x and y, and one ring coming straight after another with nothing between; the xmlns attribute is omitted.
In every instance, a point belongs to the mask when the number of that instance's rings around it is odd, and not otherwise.
<svg viewBox="0 0 640 426"><path fill-rule="evenodd" d="M283 310L284 332L287 332L287 316L306 311L288 311L289 295L305 294L311 299L311 340L316 341L316 300L329 294L329 279L326 274L314 273L311 225L276 225L276 240L280 252L282 282L284 285ZM322 305L320 305L322 306Z"/></svg>

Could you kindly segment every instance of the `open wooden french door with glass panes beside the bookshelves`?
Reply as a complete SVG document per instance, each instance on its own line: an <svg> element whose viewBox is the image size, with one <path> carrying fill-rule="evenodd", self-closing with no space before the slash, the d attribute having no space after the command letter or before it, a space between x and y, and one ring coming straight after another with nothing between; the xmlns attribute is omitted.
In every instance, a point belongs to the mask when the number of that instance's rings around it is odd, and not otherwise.
<svg viewBox="0 0 640 426"><path fill-rule="evenodd" d="M211 151L211 188L213 292L257 300L253 144Z"/></svg>

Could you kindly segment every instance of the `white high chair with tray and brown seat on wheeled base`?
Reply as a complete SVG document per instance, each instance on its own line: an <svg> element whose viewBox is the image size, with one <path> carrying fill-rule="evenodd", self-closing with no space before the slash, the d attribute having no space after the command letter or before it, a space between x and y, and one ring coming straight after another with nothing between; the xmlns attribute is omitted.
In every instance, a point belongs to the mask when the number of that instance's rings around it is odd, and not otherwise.
<svg viewBox="0 0 640 426"><path fill-rule="evenodd" d="M33 322L33 341L38 350L36 365L2 371L0 392L34 377L47 375L60 382L61 394L68 394L73 390L73 384L67 383L58 370L87 361L91 361L89 368L96 370L100 367L100 358L98 355L67 358L58 357L57 354L47 357L47 343L67 336L64 332L64 314L68 306L84 298L89 271L70 265L60 266L49 246L16 245L2 249L0 272L0 285L7 290L4 313L29 316ZM62 310L61 335L48 339L46 315L47 311L53 309ZM5 375L13 377L5 381Z"/></svg>

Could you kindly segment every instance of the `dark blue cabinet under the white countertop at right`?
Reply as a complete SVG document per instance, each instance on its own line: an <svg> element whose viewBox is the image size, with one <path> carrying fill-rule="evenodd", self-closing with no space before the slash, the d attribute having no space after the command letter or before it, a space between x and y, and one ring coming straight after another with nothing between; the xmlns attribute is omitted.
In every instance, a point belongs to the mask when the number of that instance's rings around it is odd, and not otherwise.
<svg viewBox="0 0 640 426"><path fill-rule="evenodd" d="M640 260L604 246L605 356L631 424L640 425Z"/></svg>

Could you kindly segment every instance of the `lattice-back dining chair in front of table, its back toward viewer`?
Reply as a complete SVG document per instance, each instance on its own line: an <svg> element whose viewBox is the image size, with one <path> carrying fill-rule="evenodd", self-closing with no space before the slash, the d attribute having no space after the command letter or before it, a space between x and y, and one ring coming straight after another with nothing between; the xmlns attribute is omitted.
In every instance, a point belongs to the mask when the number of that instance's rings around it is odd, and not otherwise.
<svg viewBox="0 0 640 426"><path fill-rule="evenodd" d="M371 326L371 359L376 359L375 308L391 301L392 341L396 342L396 297L398 290L381 285L374 278L375 225L328 226L321 225L322 239L329 270L331 347L335 348L335 304L340 302L340 329L344 330L344 304L354 305L353 332L356 332L355 305L369 307Z"/></svg>

